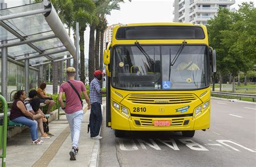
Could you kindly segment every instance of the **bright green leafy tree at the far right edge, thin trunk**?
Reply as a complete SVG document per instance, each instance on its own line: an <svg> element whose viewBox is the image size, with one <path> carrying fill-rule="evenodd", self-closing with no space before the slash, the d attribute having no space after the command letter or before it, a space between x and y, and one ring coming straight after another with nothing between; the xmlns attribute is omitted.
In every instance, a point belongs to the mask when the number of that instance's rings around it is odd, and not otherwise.
<svg viewBox="0 0 256 167"><path fill-rule="evenodd" d="M252 2L239 5L238 12L232 13L233 24L229 30L221 32L221 43L228 48L224 61L234 78L239 71L247 72L256 62L256 9Z"/></svg>

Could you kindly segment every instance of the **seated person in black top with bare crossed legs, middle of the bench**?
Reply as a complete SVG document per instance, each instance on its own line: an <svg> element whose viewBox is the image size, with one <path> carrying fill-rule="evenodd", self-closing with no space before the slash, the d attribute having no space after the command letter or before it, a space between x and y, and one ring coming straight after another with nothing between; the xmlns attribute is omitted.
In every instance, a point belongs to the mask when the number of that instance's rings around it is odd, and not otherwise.
<svg viewBox="0 0 256 167"><path fill-rule="evenodd" d="M33 114L33 119L37 121L39 130L41 132L41 138L49 139L50 137L45 133L43 122L47 122L44 113L39 108L40 107L40 99L37 97L37 91L35 89L29 92L29 98L24 100L26 105L26 109L29 110L30 113Z"/></svg>

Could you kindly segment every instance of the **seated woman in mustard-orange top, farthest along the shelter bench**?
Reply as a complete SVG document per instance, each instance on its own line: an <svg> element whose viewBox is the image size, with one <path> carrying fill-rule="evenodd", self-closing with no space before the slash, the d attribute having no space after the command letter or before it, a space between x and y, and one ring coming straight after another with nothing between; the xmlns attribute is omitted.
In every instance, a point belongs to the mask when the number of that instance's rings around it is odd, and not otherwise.
<svg viewBox="0 0 256 167"><path fill-rule="evenodd" d="M44 82L41 83L40 87L37 89L38 97L40 98L41 103L45 103L46 105L48 105L48 109L46 113L52 114L50 113L50 110L51 110L51 107L55 105L55 101L52 100L51 96L46 95L45 88L46 88L46 83Z"/></svg>

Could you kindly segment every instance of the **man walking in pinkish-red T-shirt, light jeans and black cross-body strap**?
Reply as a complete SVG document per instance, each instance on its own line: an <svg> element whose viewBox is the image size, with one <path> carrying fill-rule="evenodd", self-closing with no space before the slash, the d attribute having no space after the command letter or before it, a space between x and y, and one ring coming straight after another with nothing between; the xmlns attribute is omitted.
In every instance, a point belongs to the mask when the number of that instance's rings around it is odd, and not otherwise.
<svg viewBox="0 0 256 167"><path fill-rule="evenodd" d="M75 80L76 69L69 67L66 69L69 81L62 83L59 88L58 101L63 110L66 113L66 119L69 122L69 128L71 131L72 149L69 152L70 160L76 160L76 154L78 152L78 141L80 135L81 124L83 121L83 104L80 98L80 93L83 92L85 101L88 104L88 109L91 108L89 96L86 93L84 83ZM65 93L66 106L64 106L62 95Z"/></svg>

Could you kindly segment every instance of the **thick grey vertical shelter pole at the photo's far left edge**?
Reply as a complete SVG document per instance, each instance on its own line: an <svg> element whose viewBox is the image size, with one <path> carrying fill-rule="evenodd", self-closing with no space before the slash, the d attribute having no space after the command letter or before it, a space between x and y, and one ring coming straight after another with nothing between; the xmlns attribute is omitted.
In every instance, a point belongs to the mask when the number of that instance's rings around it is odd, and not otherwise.
<svg viewBox="0 0 256 167"><path fill-rule="evenodd" d="M1 9L6 9L7 8L7 3L1 3ZM3 28L2 28L2 34L3 36L7 36L7 31L5 31ZM7 39L2 39L2 44L7 44ZM8 77L7 77L7 72L8 72L8 52L7 52L7 47L3 47L2 48L2 77L1 77L1 80L2 80L2 84L1 84L1 94L2 96L7 100L7 81L8 81Z"/></svg>

